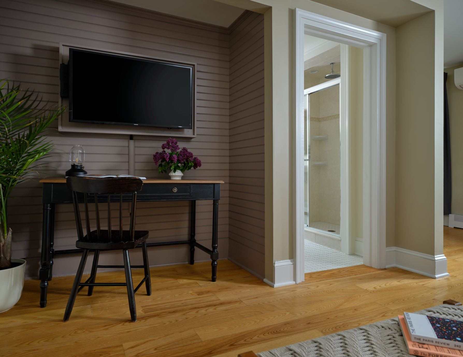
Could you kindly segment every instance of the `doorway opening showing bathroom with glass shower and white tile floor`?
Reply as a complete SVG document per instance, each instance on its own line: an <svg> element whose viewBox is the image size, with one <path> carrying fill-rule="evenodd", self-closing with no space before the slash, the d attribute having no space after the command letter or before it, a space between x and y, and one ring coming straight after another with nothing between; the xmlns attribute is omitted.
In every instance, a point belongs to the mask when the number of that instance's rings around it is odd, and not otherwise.
<svg viewBox="0 0 463 357"><path fill-rule="evenodd" d="M347 194L341 182L358 180L356 157L362 147L347 135L358 131L348 126L362 130L358 106L362 106L363 50L310 35L304 35L304 47L304 273L311 273L363 264L363 244L357 244L356 250L351 242L351 237L362 237L362 232L355 224L349 232L347 220L341 219L346 214L341 212L341 196L344 201L354 200L353 204L345 202L353 208L350 219L362 215L361 207L356 207L362 203L362 190L360 197L350 187ZM349 105L342 109L341 88L345 94L351 89L356 92L346 96ZM353 158L341 155L348 143L353 145L347 148ZM355 177L348 180L347 175Z"/></svg>

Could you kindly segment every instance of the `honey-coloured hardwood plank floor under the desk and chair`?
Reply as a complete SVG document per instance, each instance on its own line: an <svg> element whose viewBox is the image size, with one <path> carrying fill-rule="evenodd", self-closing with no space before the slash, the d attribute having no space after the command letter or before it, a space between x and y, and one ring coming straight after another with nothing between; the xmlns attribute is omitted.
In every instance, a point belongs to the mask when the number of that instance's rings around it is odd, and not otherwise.
<svg viewBox="0 0 463 357"><path fill-rule="evenodd" d="M25 282L18 304L0 314L0 356L234 356L316 338L404 311L463 301L463 230L444 227L449 277L363 265L307 274L307 282L271 288L233 263L151 268L151 296L135 294L130 322L125 287L85 288L68 322L64 308L73 276L53 278L48 305L38 307L38 281ZM143 269L133 270L134 281ZM124 282L124 272L99 282Z"/></svg>

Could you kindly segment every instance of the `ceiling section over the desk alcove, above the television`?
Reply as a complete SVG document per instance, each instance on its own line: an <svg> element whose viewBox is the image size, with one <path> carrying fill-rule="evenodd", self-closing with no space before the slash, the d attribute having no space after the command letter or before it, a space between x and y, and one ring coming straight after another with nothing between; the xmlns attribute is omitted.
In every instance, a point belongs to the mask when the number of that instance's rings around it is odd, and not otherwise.
<svg viewBox="0 0 463 357"><path fill-rule="evenodd" d="M111 0L125 5L131 5L180 16L186 19L206 22L208 24L228 27L232 25L243 9L223 4L214 0Z"/></svg>

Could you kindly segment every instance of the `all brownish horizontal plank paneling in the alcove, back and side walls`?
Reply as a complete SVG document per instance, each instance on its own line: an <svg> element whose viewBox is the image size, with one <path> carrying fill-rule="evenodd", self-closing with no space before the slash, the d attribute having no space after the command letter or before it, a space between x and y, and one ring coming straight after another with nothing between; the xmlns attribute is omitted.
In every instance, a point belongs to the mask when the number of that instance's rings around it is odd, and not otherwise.
<svg viewBox="0 0 463 357"><path fill-rule="evenodd" d="M182 139L179 145L200 157L202 167L187 171L184 177L225 182L219 204L220 258L230 255L262 277L263 15L245 12L230 29L224 29L100 0L4 0L0 8L0 77L34 88L50 105L58 103L60 42L197 63L197 137ZM133 159L135 175L166 177L152 161L163 138L135 136L131 158L128 136L63 134L56 128L54 123L47 132L56 155L41 169L42 176L64 175L69 149L81 144L89 173L125 174ZM22 182L13 196L8 202L13 254L35 262L28 274L37 276L41 184ZM196 206L196 239L205 245L211 240L211 203L199 201ZM186 238L190 207L190 202L140 202L138 228L150 231L150 242ZM116 217L117 210L113 214ZM128 207L124 214L128 220ZM55 249L73 248L75 240L72 207L56 205ZM181 263L187 256L186 246L151 249L150 263ZM109 264L114 257L107 253L102 259ZM70 266L55 264L54 273L72 274L78 259L69 262Z"/></svg>

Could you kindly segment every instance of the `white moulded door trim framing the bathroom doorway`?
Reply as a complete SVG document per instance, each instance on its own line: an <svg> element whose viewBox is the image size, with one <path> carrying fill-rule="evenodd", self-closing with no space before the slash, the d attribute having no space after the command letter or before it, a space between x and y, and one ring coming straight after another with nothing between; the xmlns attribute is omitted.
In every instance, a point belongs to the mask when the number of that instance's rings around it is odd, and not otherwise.
<svg viewBox="0 0 463 357"><path fill-rule="evenodd" d="M386 34L294 10L293 247L296 283L304 280L304 34L364 49L364 263L386 266ZM345 74L345 73L344 73ZM344 154L347 154L344 153ZM341 208L342 209L342 208Z"/></svg>

